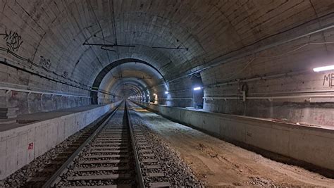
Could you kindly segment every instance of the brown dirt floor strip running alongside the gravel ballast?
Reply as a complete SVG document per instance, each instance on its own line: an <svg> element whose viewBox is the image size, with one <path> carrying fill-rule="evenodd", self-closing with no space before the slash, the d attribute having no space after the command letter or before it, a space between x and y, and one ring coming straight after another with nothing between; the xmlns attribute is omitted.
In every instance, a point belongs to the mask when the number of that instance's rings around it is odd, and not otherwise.
<svg viewBox="0 0 334 188"><path fill-rule="evenodd" d="M279 163L211 137L132 104L207 186L331 187L334 180L295 165Z"/></svg>

